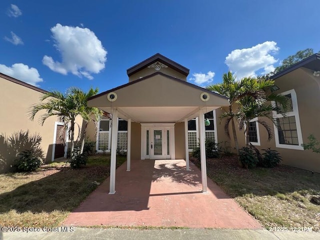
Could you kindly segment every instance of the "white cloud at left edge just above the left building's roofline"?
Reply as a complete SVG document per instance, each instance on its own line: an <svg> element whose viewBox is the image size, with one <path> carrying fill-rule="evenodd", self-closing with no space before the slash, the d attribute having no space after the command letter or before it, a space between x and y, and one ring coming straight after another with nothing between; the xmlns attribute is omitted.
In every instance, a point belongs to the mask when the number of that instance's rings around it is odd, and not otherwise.
<svg viewBox="0 0 320 240"><path fill-rule="evenodd" d="M24 65L23 63L14 63L12 66L0 64L0 72L33 86L38 86L37 83L43 81L36 68L29 68L28 65Z"/></svg>

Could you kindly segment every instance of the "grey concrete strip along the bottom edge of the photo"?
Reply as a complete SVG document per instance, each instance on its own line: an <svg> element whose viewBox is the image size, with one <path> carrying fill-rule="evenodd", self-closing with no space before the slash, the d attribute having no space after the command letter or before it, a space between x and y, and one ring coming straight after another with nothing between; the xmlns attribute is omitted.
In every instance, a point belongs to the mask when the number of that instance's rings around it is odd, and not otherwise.
<svg viewBox="0 0 320 240"><path fill-rule="evenodd" d="M317 240L320 239L319 232L293 232L293 231L267 231L265 229L159 229L159 230L137 230L137 229L94 229L73 228L70 232L5 232L4 240L102 240L102 239L138 239L138 240Z"/></svg>

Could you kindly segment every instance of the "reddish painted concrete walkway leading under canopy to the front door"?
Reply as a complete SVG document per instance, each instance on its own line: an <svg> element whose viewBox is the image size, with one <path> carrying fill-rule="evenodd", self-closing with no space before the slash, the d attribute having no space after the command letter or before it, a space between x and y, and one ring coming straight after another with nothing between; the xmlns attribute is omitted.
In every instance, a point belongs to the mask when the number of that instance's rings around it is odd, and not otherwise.
<svg viewBox="0 0 320 240"><path fill-rule="evenodd" d="M199 169L184 160L136 160L116 170L115 194L105 180L64 221L66 226L179 226L261 229L260 224L208 179L201 192Z"/></svg>

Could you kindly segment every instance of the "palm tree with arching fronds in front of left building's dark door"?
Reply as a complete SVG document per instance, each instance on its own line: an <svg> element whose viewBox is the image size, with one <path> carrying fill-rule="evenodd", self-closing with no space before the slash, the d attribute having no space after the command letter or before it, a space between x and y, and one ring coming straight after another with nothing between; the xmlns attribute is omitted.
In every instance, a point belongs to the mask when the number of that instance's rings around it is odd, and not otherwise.
<svg viewBox="0 0 320 240"><path fill-rule="evenodd" d="M75 122L75 117L80 115L86 122L90 120L91 115L96 119L101 115L101 111L95 107L87 106L87 99L89 96L95 95L98 88L92 89L85 93L77 87L70 87L65 93L60 91L49 91L40 96L40 102L32 104L28 111L30 120L34 120L35 114L44 110L39 117L38 122L43 125L44 121L50 116L56 116L60 122L63 122L64 129L70 125L68 135L71 141L71 158L74 155L74 127L81 127ZM85 130L81 131L81 139L84 140ZM79 139L79 138L78 138Z"/></svg>

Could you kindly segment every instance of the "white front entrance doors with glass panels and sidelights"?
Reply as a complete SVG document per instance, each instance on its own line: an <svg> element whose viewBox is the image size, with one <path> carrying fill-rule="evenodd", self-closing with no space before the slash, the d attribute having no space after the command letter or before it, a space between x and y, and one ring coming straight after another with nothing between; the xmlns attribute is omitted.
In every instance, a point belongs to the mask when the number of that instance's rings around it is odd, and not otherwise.
<svg viewBox="0 0 320 240"><path fill-rule="evenodd" d="M141 159L174 159L174 127L166 124L142 125Z"/></svg>

